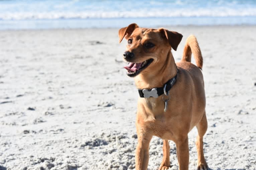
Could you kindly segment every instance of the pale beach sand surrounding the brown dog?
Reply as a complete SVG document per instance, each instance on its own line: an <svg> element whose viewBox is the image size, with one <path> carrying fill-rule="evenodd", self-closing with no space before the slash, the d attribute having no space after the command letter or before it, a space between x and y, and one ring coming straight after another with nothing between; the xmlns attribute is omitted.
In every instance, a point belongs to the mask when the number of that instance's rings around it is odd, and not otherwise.
<svg viewBox="0 0 256 170"><path fill-rule="evenodd" d="M183 34L175 61L190 34L202 50L209 167L255 170L256 26L168 29ZM0 170L135 168L138 93L117 32L0 31ZM196 135L189 133L189 169L197 167ZM162 140L153 137L148 169L161 160Z"/></svg>

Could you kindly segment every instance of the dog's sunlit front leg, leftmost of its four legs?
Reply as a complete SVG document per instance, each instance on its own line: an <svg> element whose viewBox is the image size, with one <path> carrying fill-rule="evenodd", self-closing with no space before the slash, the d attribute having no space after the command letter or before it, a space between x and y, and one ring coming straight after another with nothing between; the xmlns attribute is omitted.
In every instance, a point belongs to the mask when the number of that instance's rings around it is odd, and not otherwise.
<svg viewBox="0 0 256 170"><path fill-rule="evenodd" d="M149 143L152 138L152 134L145 133L144 130L137 130L138 144L135 154L135 169L147 170L149 159Z"/></svg>

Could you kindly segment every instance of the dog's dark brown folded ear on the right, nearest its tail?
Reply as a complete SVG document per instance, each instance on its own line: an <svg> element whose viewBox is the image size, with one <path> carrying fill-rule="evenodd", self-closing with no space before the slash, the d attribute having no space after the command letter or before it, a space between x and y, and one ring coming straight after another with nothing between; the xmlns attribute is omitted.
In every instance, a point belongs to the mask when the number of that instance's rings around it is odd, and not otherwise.
<svg viewBox="0 0 256 170"><path fill-rule="evenodd" d="M159 29L159 31L164 38L167 38L172 49L176 51L183 36L175 31L168 31L163 28Z"/></svg>

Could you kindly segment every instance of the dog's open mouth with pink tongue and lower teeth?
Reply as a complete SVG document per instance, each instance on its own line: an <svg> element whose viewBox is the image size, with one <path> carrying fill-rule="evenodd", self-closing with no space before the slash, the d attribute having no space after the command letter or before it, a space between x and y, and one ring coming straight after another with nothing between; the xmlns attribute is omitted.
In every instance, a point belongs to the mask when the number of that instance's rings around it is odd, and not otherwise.
<svg viewBox="0 0 256 170"><path fill-rule="evenodd" d="M142 63L129 63L128 66L124 67L127 70L126 74L130 77L134 77L148 67L152 61L153 59L148 59Z"/></svg>

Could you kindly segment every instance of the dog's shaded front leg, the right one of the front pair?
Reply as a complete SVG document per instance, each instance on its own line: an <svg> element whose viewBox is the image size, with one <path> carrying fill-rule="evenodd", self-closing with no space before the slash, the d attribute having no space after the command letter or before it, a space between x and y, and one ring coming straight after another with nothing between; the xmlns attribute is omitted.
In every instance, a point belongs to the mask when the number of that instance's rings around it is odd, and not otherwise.
<svg viewBox="0 0 256 170"><path fill-rule="evenodd" d="M176 152L179 163L179 170L188 170L189 163L189 150L188 150L188 138L180 138L176 142Z"/></svg>

